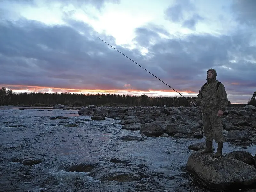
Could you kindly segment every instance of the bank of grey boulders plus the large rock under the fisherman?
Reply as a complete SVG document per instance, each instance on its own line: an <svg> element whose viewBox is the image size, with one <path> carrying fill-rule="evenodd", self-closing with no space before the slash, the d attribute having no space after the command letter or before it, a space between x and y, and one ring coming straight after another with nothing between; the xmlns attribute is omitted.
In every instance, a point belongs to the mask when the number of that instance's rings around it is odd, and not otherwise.
<svg viewBox="0 0 256 192"><path fill-rule="evenodd" d="M145 136L176 138L203 138L204 136L201 112L196 107L102 108L90 105L81 108L78 113L92 115L92 120L105 120L105 117L120 120L122 129L139 130L140 134ZM256 108L254 106L227 108L223 115L223 134L227 142L244 149L256 143ZM140 140L134 137L126 137L126 139ZM188 148L200 151L205 148L205 143L190 145ZM253 155L241 150L216 159L211 153L193 153L188 159L186 170L213 188L250 186L256 183L256 169L253 167L256 164L256 154Z"/></svg>

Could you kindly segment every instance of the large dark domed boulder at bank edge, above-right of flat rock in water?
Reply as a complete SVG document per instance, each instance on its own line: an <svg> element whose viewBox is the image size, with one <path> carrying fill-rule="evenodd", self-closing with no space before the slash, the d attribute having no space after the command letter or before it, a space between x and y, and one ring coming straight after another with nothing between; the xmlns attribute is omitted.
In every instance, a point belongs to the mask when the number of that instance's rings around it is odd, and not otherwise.
<svg viewBox="0 0 256 192"><path fill-rule="evenodd" d="M164 126L158 122L144 124L140 129L140 134L148 136L160 136L164 133Z"/></svg>

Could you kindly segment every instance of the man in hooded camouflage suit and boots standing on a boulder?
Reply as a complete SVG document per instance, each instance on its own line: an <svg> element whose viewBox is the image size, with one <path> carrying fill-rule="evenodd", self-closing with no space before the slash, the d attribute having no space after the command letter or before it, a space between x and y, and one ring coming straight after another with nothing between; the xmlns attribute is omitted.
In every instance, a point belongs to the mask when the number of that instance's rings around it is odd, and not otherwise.
<svg viewBox="0 0 256 192"><path fill-rule="evenodd" d="M222 132L222 123L220 117L223 115L228 106L227 93L222 83L217 89L218 80L216 80L217 72L214 69L207 71L207 83L199 90L197 98L190 104L201 106L202 121L204 128L204 135L206 140L206 149L201 153L212 152L213 138L218 143L217 152L213 155L218 158L222 156L223 143L225 138Z"/></svg>

